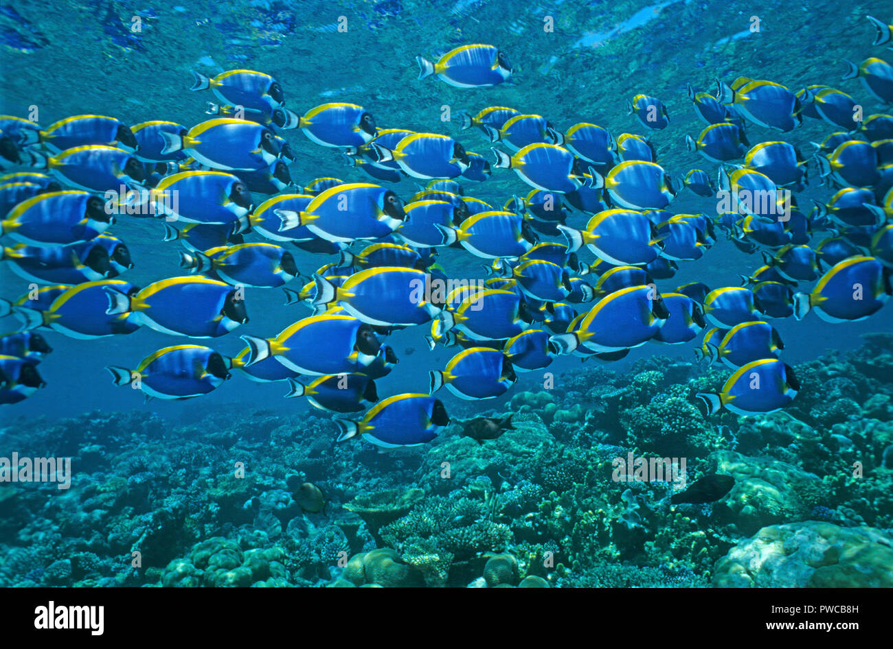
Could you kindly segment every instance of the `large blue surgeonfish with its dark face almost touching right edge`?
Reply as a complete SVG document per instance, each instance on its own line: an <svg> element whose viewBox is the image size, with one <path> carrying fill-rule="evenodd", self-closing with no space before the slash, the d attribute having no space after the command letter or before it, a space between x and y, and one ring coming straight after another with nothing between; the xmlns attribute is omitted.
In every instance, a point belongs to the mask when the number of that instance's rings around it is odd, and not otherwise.
<svg viewBox="0 0 893 649"><path fill-rule="evenodd" d="M810 310L831 323L864 320L876 313L893 293L890 270L873 257L851 257L822 275L815 288L794 296L794 317Z"/></svg>

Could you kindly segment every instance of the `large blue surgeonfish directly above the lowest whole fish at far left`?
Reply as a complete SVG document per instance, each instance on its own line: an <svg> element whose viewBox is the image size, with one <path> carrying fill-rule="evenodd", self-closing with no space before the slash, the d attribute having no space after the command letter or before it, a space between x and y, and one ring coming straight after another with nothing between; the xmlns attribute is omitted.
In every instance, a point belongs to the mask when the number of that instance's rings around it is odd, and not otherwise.
<svg viewBox="0 0 893 649"><path fill-rule="evenodd" d="M171 277L137 293L106 287L106 313L134 313L134 322L161 333L215 338L248 321L244 288L201 275Z"/></svg>

